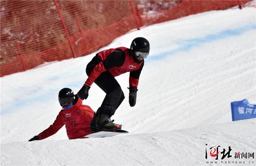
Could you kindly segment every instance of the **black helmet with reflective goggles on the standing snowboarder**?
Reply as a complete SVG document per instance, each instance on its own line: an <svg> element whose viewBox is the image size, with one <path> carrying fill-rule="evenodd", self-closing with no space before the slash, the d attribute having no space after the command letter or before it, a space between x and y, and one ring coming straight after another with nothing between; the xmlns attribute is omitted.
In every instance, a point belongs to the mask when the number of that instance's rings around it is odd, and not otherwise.
<svg viewBox="0 0 256 166"><path fill-rule="evenodd" d="M138 57L143 57L143 59L145 59L149 54L149 41L144 37L136 37L132 40L130 49L132 50L132 56L134 57L135 62L138 62Z"/></svg>

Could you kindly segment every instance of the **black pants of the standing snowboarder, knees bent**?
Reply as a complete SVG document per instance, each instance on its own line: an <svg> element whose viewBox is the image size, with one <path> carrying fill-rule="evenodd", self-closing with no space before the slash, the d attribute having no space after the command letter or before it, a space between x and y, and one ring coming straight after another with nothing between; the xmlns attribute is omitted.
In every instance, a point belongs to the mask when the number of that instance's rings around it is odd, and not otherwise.
<svg viewBox="0 0 256 166"><path fill-rule="evenodd" d="M89 74L92 72L93 68L99 64L100 59L98 55L92 58L91 62L87 64L86 67L86 74L89 76ZM103 72L99 75L99 77L94 81L95 84L97 84L105 93L106 96L102 102L102 107L105 107L104 111L102 113L114 115L115 110L119 107L119 105L124 100L124 92L122 91L119 83L117 80L108 72ZM112 110L111 110L112 107Z"/></svg>

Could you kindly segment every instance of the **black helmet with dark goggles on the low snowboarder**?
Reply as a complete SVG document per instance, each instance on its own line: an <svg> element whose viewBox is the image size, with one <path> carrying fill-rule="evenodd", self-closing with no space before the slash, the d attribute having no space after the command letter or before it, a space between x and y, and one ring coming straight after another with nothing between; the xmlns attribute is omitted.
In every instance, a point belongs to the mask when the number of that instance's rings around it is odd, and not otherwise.
<svg viewBox="0 0 256 166"><path fill-rule="evenodd" d="M60 105L69 105L73 102L75 94L72 91L72 89L69 88L63 88L59 92L59 102Z"/></svg>

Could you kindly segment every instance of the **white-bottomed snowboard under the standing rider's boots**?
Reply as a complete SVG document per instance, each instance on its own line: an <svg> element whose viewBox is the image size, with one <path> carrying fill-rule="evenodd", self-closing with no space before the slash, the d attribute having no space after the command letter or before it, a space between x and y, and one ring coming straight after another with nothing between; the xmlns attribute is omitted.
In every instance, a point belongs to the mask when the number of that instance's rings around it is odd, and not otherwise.
<svg viewBox="0 0 256 166"><path fill-rule="evenodd" d="M88 134L85 137L87 138L102 138L102 137L107 137L107 136L116 136L119 134L127 134L129 133L128 131L121 130L121 129L106 129L103 131L98 131L92 134Z"/></svg>

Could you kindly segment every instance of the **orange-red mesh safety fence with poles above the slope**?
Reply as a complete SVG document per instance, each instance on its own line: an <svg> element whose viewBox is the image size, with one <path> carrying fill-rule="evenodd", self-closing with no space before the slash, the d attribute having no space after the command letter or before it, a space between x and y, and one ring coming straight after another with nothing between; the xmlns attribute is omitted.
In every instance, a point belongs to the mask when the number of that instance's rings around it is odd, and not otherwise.
<svg viewBox="0 0 256 166"><path fill-rule="evenodd" d="M0 75L88 55L140 27L251 0L0 0ZM249 3L248 3L249 2Z"/></svg>

